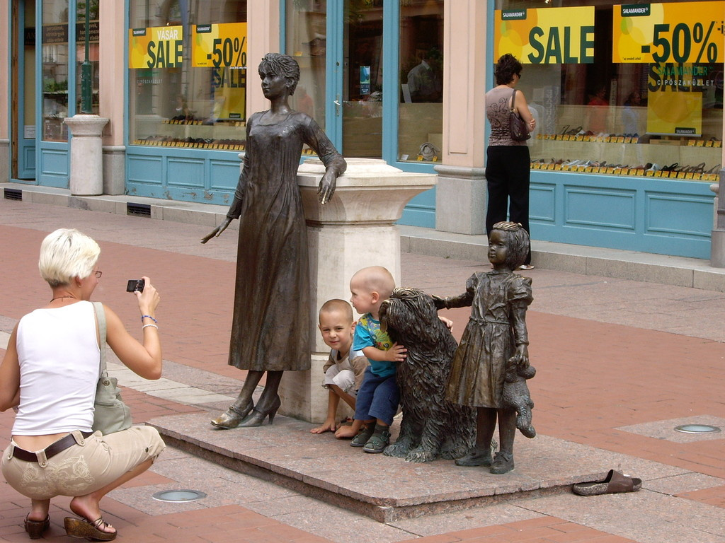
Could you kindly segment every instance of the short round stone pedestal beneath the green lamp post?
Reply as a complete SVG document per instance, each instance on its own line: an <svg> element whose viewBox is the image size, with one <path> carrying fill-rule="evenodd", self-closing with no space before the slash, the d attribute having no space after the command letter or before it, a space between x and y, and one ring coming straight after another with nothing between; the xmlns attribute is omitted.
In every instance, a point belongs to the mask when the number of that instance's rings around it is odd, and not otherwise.
<svg viewBox="0 0 725 543"><path fill-rule="evenodd" d="M101 132L108 119L78 114L66 117L70 140L70 193L74 196L103 194L103 146Z"/></svg>

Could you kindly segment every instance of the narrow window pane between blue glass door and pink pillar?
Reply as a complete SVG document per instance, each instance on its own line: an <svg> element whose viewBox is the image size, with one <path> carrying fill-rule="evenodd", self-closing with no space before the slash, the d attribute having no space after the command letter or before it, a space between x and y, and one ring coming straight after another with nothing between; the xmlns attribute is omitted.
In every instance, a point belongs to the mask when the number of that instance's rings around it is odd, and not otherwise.
<svg viewBox="0 0 725 543"><path fill-rule="evenodd" d="M439 161L443 146L443 0L400 1L400 161Z"/></svg>

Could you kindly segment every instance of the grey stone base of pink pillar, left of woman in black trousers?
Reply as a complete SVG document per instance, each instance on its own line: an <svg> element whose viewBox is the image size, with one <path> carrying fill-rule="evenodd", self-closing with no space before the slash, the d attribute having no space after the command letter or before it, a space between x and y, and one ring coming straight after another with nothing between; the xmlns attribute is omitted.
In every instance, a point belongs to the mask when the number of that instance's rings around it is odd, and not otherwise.
<svg viewBox="0 0 725 543"><path fill-rule="evenodd" d="M436 230L456 234L486 233L485 168L447 166L438 172Z"/></svg>

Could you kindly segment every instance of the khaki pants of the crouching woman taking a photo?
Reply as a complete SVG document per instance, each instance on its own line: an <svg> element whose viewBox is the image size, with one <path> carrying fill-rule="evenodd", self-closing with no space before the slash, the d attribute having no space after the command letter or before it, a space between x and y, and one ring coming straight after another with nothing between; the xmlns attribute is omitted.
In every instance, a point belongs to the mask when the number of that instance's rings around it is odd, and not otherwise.
<svg viewBox="0 0 725 543"><path fill-rule="evenodd" d="M166 447L157 429L131 426L123 432L102 435L95 432L83 439L72 432L76 444L59 452L41 466L12 456L11 442L3 452L1 468L5 480L17 492L31 500L49 500L54 496L83 496L101 489L146 460L156 458Z"/></svg>

